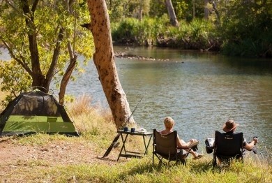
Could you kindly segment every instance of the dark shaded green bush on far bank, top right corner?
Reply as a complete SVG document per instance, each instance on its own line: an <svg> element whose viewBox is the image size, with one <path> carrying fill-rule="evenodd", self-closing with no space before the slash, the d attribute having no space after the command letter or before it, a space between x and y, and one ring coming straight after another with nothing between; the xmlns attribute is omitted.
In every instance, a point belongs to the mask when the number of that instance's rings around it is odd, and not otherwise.
<svg viewBox="0 0 272 183"><path fill-rule="evenodd" d="M218 29L224 42L224 54L243 57L272 56L272 10L266 3L268 2L230 3L228 13Z"/></svg>

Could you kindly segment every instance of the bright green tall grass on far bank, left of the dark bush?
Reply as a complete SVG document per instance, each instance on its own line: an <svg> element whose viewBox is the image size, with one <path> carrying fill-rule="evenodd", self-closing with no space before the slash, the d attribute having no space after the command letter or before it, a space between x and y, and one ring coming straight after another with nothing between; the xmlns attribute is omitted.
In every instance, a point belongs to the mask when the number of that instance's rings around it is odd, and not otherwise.
<svg viewBox="0 0 272 183"><path fill-rule="evenodd" d="M156 19L145 17L142 21L126 18L112 23L112 38L119 43L193 50L209 50L219 46L215 27L211 22L194 20L190 23L181 21L180 24L180 27L172 27L166 15Z"/></svg>

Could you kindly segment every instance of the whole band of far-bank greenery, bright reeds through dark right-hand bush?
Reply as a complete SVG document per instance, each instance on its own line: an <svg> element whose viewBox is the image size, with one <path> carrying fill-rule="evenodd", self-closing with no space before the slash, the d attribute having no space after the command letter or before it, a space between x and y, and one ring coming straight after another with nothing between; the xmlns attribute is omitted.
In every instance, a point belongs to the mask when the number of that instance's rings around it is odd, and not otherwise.
<svg viewBox="0 0 272 183"><path fill-rule="evenodd" d="M221 51L242 57L272 57L270 6L261 6L259 1L243 3L229 3L221 24L195 19L191 22L181 20L179 27L172 27L168 15L144 17L142 21L125 18L112 24L112 38L116 43Z"/></svg>

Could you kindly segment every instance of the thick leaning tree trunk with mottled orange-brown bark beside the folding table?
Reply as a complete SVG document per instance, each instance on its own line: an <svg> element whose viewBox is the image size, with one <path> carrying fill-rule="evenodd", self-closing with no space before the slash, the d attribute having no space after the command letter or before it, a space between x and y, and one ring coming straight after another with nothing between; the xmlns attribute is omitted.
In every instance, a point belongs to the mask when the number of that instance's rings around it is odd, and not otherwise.
<svg viewBox="0 0 272 183"><path fill-rule="evenodd" d="M93 61L116 128L119 129L126 125L131 112L116 70L107 5L105 0L88 0L88 7L91 15L88 28L91 29L96 47ZM133 117L128 123L135 124Z"/></svg>

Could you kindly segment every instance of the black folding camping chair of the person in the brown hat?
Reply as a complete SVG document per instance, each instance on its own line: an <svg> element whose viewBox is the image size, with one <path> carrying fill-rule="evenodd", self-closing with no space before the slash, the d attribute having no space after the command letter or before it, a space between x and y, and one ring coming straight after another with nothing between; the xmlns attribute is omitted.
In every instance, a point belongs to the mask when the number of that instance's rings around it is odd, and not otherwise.
<svg viewBox="0 0 272 183"><path fill-rule="evenodd" d="M243 133L220 133L216 131L213 147L213 167L217 165L216 158L222 163L232 159L243 162Z"/></svg>

